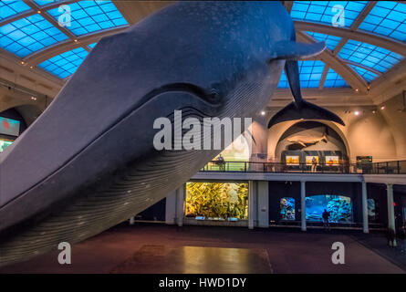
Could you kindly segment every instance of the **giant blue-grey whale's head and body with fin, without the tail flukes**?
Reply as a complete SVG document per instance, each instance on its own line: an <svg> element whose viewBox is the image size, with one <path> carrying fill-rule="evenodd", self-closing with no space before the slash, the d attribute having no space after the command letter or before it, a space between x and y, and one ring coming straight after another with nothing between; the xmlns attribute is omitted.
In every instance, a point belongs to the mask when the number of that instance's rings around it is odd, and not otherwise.
<svg viewBox="0 0 406 292"><path fill-rule="evenodd" d="M155 119L173 110L183 119L254 117L285 62L324 47L296 44L276 2L177 3L101 39L0 155L0 266L97 235L160 201L220 151L156 151Z"/></svg>

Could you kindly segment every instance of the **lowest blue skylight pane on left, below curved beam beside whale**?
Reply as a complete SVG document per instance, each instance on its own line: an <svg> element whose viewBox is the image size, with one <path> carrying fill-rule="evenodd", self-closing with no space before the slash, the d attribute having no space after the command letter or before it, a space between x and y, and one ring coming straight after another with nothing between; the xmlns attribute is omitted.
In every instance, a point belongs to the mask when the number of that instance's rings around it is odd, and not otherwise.
<svg viewBox="0 0 406 292"><path fill-rule="evenodd" d="M88 51L83 47L78 47L55 57L51 57L47 59L47 61L39 64L38 67L44 68L50 73L57 75L58 78L67 78L69 75L75 73L76 69L87 56Z"/></svg>

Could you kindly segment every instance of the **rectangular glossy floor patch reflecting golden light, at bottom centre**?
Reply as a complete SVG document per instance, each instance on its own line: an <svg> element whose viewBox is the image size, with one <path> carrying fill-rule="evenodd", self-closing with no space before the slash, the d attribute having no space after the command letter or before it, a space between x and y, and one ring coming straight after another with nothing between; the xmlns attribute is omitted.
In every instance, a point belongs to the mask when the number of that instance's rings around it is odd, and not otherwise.
<svg viewBox="0 0 406 292"><path fill-rule="evenodd" d="M144 245L113 273L268 274L265 249Z"/></svg>

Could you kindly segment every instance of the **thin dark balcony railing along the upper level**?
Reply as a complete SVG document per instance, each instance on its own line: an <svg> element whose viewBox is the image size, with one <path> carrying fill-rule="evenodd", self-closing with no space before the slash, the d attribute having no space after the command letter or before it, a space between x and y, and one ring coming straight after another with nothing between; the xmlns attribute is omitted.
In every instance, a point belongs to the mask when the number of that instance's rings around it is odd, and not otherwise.
<svg viewBox="0 0 406 292"><path fill-rule="evenodd" d="M300 173L357 173L406 174L406 161L374 163L308 163L281 162L218 162L207 163L201 172L300 172Z"/></svg>

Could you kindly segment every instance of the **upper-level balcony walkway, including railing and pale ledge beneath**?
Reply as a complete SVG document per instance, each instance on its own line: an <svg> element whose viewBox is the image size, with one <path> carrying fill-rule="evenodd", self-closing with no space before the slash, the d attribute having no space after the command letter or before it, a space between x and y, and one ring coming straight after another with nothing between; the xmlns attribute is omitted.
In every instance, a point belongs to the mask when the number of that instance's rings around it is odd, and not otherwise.
<svg viewBox="0 0 406 292"><path fill-rule="evenodd" d="M362 165L214 161L204 166L192 179L406 184L406 161Z"/></svg>

